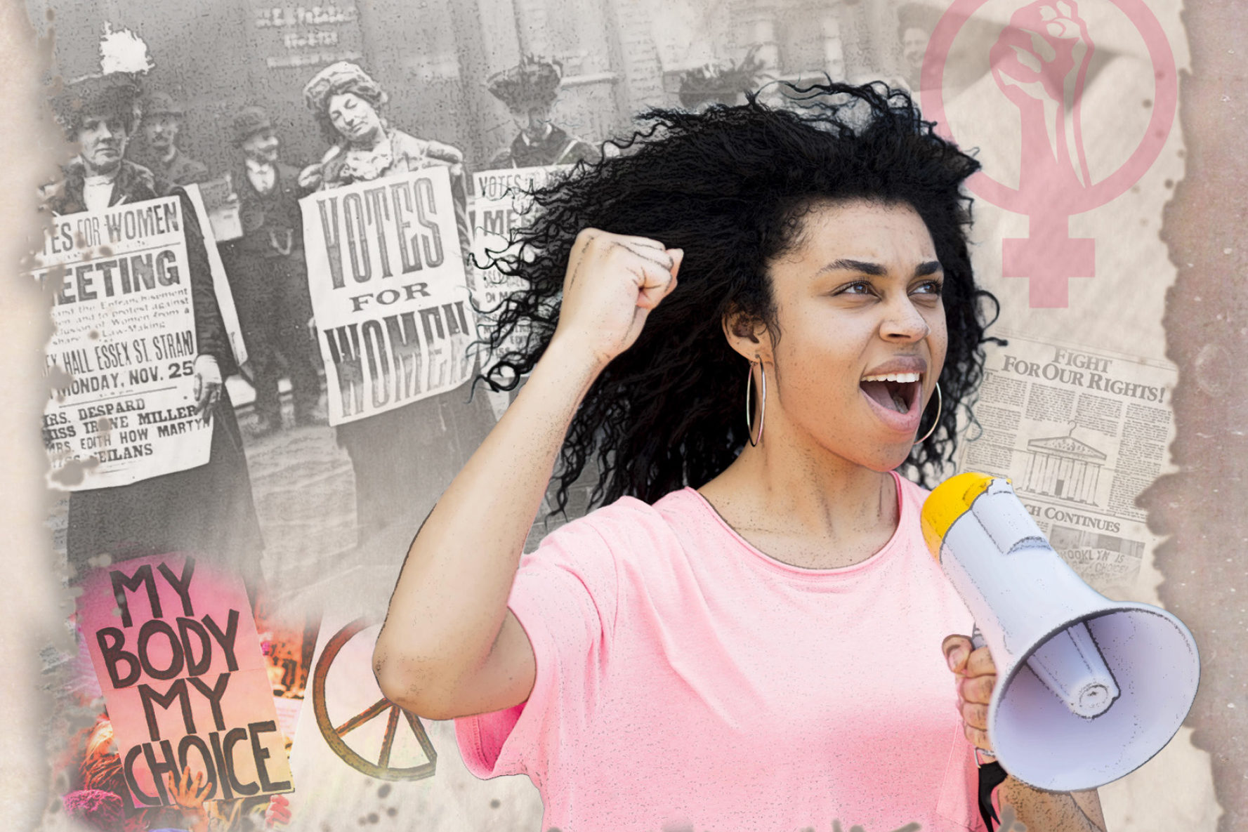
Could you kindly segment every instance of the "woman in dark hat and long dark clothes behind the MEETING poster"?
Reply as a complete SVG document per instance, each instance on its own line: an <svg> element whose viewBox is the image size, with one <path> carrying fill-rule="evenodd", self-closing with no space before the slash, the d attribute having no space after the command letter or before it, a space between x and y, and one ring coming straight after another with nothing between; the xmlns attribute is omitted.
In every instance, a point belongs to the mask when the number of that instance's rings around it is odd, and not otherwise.
<svg viewBox="0 0 1248 832"><path fill-rule="evenodd" d="M157 197L151 171L125 158L139 121L137 82L125 74L82 79L54 104L80 153L64 180L45 192L55 215L99 211ZM186 256L195 309L196 407L212 420L208 463L151 476L130 485L86 489L70 495L66 550L70 564L109 555L114 561L166 551L188 551L227 564L248 590L261 580L263 549L252 501L242 434L222 378L236 372L228 336L217 308L203 233L181 191Z"/></svg>

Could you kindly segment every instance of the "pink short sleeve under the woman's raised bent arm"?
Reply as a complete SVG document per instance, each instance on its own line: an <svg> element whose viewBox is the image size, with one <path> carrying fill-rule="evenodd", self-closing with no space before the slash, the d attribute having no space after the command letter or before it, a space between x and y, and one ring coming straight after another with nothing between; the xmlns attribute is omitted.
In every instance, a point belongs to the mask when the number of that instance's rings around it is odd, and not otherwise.
<svg viewBox="0 0 1248 832"><path fill-rule="evenodd" d="M529 775L542 785L560 748L577 747L610 654L619 596L610 546L594 515L552 533L520 560L508 607L533 645L533 691L513 709L456 720L478 777Z"/></svg>

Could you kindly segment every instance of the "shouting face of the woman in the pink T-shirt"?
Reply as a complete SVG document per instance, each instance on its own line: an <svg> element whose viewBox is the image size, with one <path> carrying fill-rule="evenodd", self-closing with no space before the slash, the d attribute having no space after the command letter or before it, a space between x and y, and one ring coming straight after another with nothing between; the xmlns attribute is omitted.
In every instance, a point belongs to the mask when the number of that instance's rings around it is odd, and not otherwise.
<svg viewBox="0 0 1248 832"><path fill-rule="evenodd" d="M910 206L866 201L814 208L802 237L769 269L780 338L766 429L780 419L796 442L891 470L945 363L936 247Z"/></svg>

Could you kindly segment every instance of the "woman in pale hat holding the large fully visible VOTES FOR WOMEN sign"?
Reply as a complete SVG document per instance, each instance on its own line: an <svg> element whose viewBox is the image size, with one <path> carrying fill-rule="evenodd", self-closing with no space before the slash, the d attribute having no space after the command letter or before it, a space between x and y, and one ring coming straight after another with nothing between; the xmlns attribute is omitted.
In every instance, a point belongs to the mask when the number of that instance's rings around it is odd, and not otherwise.
<svg viewBox="0 0 1248 832"><path fill-rule="evenodd" d="M303 100L333 143L301 176L305 187L336 188L442 165L449 168L461 251L470 249L463 153L389 126L386 94L354 64L318 72ZM494 424L484 395L469 385L338 427L338 442L356 473L356 524L361 541L396 524L419 523Z"/></svg>

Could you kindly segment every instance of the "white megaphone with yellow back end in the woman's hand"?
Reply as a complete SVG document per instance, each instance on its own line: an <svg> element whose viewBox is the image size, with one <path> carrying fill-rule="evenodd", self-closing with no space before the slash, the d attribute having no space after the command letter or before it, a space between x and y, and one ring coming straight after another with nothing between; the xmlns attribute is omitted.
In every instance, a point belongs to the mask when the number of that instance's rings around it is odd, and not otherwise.
<svg viewBox="0 0 1248 832"><path fill-rule="evenodd" d="M1007 772L1048 791L1096 788L1166 747L1201 675L1182 621L1085 584L1008 479L946 480L922 530L996 664L988 741Z"/></svg>

